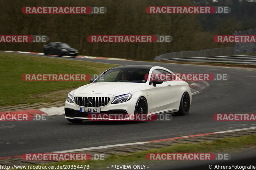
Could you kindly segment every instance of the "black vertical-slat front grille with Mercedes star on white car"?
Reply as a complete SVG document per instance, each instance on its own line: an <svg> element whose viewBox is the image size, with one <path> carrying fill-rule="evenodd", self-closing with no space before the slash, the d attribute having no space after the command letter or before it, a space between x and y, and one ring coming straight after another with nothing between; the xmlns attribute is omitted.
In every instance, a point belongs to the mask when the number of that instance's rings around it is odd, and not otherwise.
<svg viewBox="0 0 256 170"><path fill-rule="evenodd" d="M74 97L78 106L100 107L106 106L110 101L109 97Z"/></svg>

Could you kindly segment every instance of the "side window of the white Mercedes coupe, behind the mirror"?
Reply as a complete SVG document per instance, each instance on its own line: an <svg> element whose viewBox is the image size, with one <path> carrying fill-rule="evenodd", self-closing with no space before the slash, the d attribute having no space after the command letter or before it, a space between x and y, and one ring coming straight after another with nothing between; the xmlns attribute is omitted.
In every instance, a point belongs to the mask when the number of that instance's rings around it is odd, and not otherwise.
<svg viewBox="0 0 256 170"><path fill-rule="evenodd" d="M172 80L175 80L175 76L172 73L169 73L168 71L165 71L162 69L156 69L150 75L150 82L152 82L153 80L172 81Z"/></svg>

